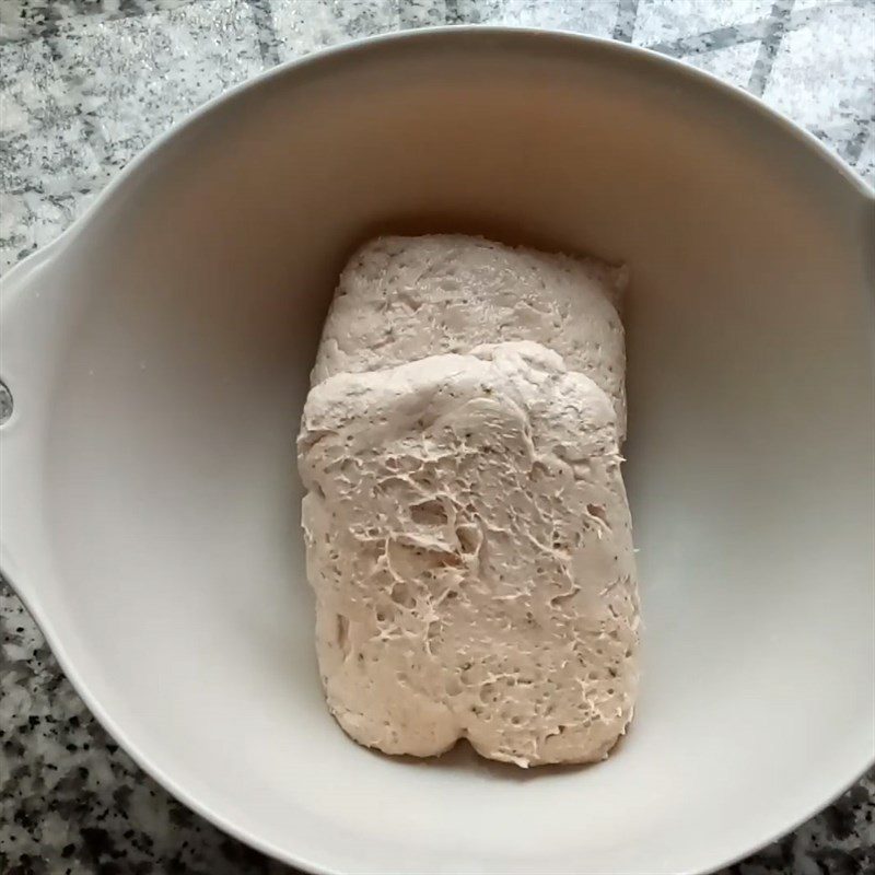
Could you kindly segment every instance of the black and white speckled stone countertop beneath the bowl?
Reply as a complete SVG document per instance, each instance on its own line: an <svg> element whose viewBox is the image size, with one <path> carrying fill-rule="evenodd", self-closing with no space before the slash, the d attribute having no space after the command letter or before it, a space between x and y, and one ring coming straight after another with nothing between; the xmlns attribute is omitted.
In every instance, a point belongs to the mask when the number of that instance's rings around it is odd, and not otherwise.
<svg viewBox="0 0 875 875"><path fill-rule="evenodd" d="M52 240L152 137L229 85L350 37L464 22L581 31L681 58L762 96L875 184L875 0L0 0L0 268ZM0 634L0 874L291 872L131 762L4 583ZM872 773L731 872L875 873L874 817Z"/></svg>

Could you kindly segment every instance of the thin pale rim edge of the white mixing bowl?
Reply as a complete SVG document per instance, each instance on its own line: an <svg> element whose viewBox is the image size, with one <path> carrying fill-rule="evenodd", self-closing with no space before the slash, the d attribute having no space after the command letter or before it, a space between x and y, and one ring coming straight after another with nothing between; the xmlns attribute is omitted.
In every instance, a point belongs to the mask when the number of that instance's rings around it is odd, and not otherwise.
<svg viewBox="0 0 875 875"><path fill-rule="evenodd" d="M407 31L393 31L381 33L372 36L360 37L350 39L339 45L329 46L318 49L300 58L293 58L282 63L276 65L244 82L225 90L221 94L207 101L198 108L190 112L185 118L172 125L166 131L155 137L148 143L95 197L92 203L73 221L63 232L61 232L54 241L39 249L31 253L23 258L10 270L5 276L0 279L0 315L7 307L9 301L15 291L22 285L25 278L36 268L45 266L50 260L54 260L70 242L72 242L81 231L88 226L92 218L98 212L104 210L109 201L119 196L122 189L130 184L135 176L137 176L142 168L153 160L153 158L173 140L177 139L188 128L192 127L198 121L205 119L207 116L214 113L223 104L243 96L248 92L254 92L259 88L265 86L269 82L280 79L283 75L290 74L292 71L307 69L317 66L327 66L338 58L347 58L362 52L378 51L382 46L386 44L396 43L436 43L441 40L466 40L466 39L492 39L502 40L502 45L511 44L514 40L521 45L530 40L540 40L542 43L552 43L556 46L576 47L578 49L586 50L587 48L597 48L606 52L612 52L620 62L628 61L629 59L641 58L645 59L649 63L653 65L654 69L661 74L669 77L686 78L689 81L698 82L712 90L722 92L724 96L734 100L747 112L751 112L759 116L769 124L775 125L784 132L790 133L791 137L798 143L800 147L808 150L826 162L833 172L841 177L842 182L850 186L870 207L875 207L875 187L868 185L865 179L845 161L843 161L836 152L820 142L813 133L792 121L788 116L779 110L769 107L762 100L754 96L744 89L725 82L716 75L700 70L691 65L666 55L662 55L653 49L634 46L628 43L610 39L607 37L591 36L587 34L576 33L572 31L563 31L556 28L537 28L527 26L513 26L513 25L480 25L480 24L460 24L460 25L440 25L432 27L422 27ZM1 375L0 375L1 376ZM8 425L15 419L15 411L10 419L5 420L2 425ZM2 427L0 427L1 429ZM31 614L34 622L39 628L46 643L49 645L52 654L55 655L58 664L60 665L63 674L69 679L73 689L81 697L88 709L103 726L103 728L116 740L119 746L130 756L130 758L141 768L148 775L155 780L166 792L174 796L179 802L184 803L188 808L203 817L214 827L225 832L229 836L237 839L238 841L247 844L248 847L292 866L296 866L303 872L312 873L312 875L342 875L339 870L332 868L329 865L319 863L315 860L306 859L298 855L283 848L277 847L271 841L261 839L257 835L249 832L246 829L237 827L232 819L214 810L208 804L200 802L197 795L189 792L185 786L180 785L171 774L165 772L152 758L138 749L128 734L117 725L112 714L103 707L97 697L92 695L89 689L88 681L77 670L72 660L66 651L66 648L58 637L50 618L46 611L40 608L39 596L37 591L28 591L28 587L23 585L23 582L18 574L10 574L9 553L5 549L7 545L0 536L0 576L2 576L11 586L12 591L19 596L24 604L27 611ZM16 583L16 578L19 581ZM872 756L862 763L851 775L843 774L838 778L833 788L830 791L829 797L825 798L822 803L806 808L796 818L782 826L780 829L769 829L759 836L752 842L747 842L746 847L738 850L725 859L721 859L714 863L708 863L704 867L696 870L687 870L678 875L709 875L709 873L718 872L726 866L743 860L744 858L756 853L767 844L773 842L780 837L795 830L798 826L804 824L810 817L822 810L838 796L852 786L866 771L875 766L875 750Z"/></svg>

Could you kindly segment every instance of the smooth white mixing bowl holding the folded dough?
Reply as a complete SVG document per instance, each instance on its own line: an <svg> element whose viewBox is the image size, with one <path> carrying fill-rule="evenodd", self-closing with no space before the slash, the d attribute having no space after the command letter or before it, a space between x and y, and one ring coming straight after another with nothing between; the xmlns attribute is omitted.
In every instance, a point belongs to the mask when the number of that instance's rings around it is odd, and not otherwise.
<svg viewBox="0 0 875 875"><path fill-rule="evenodd" d="M386 229L625 259L643 695L605 763L370 752L328 715L292 439ZM699 873L873 757L873 194L738 91L578 36L351 45L213 102L2 295L2 569L196 810L330 873Z"/></svg>

